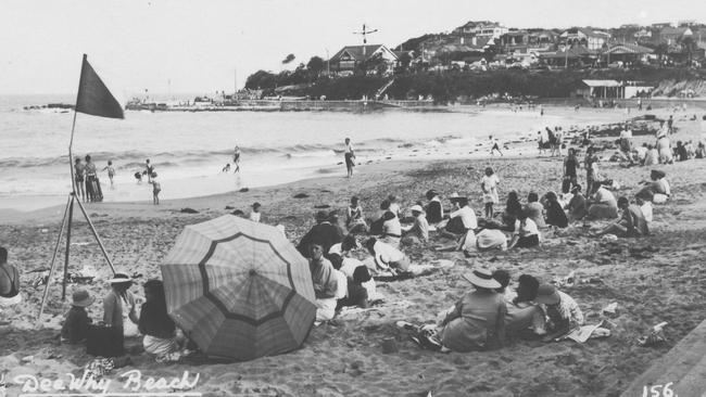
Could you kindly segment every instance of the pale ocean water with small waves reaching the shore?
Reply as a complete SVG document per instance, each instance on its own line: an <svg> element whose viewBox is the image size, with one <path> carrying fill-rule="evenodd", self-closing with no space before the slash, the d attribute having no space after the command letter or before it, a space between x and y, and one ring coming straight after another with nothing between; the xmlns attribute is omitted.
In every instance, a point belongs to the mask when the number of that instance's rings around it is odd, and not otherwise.
<svg viewBox="0 0 706 397"><path fill-rule="evenodd" d="M186 98L185 98L186 99ZM0 208L33 209L61 204L71 190L68 142L74 113L25 111L27 105L73 103L72 97L0 97ZM595 116L545 108L450 108L447 112L384 110L349 112L126 112L125 119L78 114L73 153L90 154L102 169L116 169L105 201L151 200L151 187L134 174L147 158L162 183L161 198L177 198L290 182L316 175L344 175L343 140L350 137L357 162L412 155L463 156L489 136L533 137L544 126L589 123ZM220 172L239 145L241 172ZM56 197L33 200L25 197Z"/></svg>

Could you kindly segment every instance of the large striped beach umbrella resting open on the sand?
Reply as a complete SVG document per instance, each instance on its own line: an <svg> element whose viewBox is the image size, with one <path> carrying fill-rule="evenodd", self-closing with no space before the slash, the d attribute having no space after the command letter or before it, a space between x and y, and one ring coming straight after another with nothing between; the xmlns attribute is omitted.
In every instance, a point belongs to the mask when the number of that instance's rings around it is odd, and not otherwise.
<svg viewBox="0 0 706 397"><path fill-rule="evenodd" d="M232 215L187 226L161 270L169 316L206 355L290 351L314 323L308 262L275 227Z"/></svg>

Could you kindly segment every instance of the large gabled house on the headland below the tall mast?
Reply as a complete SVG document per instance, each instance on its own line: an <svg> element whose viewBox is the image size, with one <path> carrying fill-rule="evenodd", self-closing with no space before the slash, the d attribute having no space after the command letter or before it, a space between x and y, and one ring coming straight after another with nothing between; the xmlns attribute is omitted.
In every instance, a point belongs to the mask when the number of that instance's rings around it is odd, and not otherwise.
<svg viewBox="0 0 706 397"><path fill-rule="evenodd" d="M346 46L331 56L329 64L332 72L338 74L352 74L360 69L364 64L375 57L379 57L381 65L384 65L384 75L390 75L394 71L398 62L398 55L389 48L382 44L364 44ZM368 74L377 71L368 69Z"/></svg>

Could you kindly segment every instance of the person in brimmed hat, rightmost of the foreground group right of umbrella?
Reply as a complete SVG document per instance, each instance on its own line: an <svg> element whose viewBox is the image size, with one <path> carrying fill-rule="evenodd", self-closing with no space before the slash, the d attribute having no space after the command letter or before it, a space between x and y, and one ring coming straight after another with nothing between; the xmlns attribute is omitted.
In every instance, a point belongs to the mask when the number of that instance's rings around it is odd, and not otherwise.
<svg viewBox="0 0 706 397"><path fill-rule="evenodd" d="M552 284L542 284L537 290L535 302L546 316L545 341L567 334L569 331L583 325L583 312L569 295L556 290Z"/></svg>

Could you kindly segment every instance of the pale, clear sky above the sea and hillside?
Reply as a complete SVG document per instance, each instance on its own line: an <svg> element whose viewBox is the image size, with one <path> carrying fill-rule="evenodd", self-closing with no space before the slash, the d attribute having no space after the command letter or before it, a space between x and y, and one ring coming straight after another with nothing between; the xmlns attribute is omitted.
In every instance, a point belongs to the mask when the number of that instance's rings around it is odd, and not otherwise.
<svg viewBox="0 0 706 397"><path fill-rule="evenodd" d="M257 69L361 44L353 31L364 23L379 30L368 43L393 47L480 20L519 28L706 22L706 1L2 0L0 94L75 93L84 53L116 97L232 92Z"/></svg>

